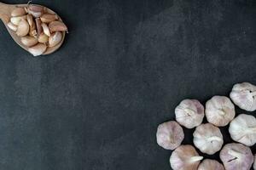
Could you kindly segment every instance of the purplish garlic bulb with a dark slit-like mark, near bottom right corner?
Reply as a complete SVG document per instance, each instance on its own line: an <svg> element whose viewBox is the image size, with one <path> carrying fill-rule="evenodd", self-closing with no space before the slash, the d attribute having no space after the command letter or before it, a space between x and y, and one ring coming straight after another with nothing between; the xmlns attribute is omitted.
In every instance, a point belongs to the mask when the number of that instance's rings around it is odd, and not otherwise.
<svg viewBox="0 0 256 170"><path fill-rule="evenodd" d="M253 164L252 151L243 144L226 144L219 156L226 170L250 170Z"/></svg>

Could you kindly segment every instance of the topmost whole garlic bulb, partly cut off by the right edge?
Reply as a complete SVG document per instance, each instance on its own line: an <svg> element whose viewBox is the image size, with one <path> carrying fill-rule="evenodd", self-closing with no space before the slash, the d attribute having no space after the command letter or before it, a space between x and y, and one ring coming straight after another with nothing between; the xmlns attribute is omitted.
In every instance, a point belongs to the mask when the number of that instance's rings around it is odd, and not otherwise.
<svg viewBox="0 0 256 170"><path fill-rule="evenodd" d="M230 93L230 98L243 110L256 110L256 86L249 82L235 84Z"/></svg>

